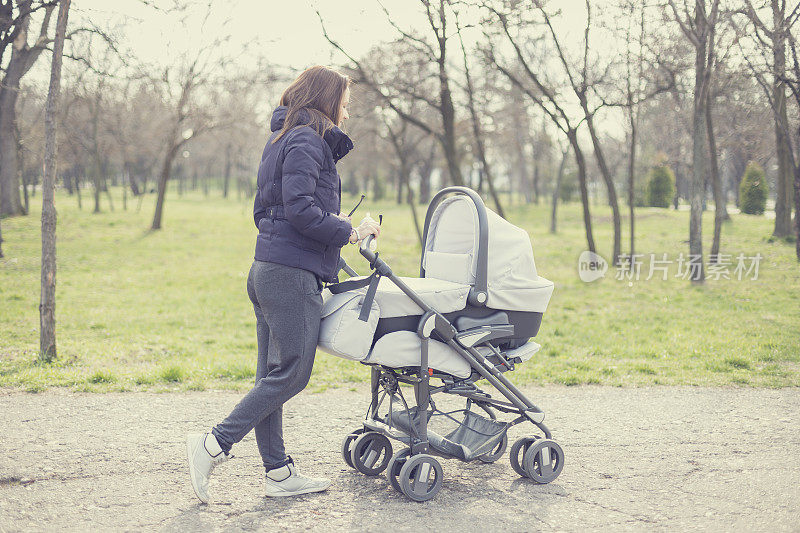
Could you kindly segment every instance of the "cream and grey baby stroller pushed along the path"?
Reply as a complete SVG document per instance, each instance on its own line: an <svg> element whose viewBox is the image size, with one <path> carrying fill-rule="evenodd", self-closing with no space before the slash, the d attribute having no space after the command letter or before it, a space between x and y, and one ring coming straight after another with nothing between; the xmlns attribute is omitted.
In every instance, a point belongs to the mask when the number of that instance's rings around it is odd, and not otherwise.
<svg viewBox="0 0 800 533"><path fill-rule="evenodd" d="M564 452L542 423L544 413L504 375L540 348L528 341L553 292L536 273L528 234L487 209L475 191L447 187L425 216L419 278L396 276L371 242L359 251L372 274L358 277L340 261L353 277L323 291L320 349L371 367L371 402L363 426L344 439L344 461L369 476L386 471L396 490L427 501L442 487L434 455L494 462L506 450L508 429L531 422L544 437L517 440L511 466L538 483L556 479ZM504 398L479 388L481 380ZM415 405L401 385L412 386ZM439 409L438 393L463 398L465 407ZM513 417L501 421L498 413ZM450 427L439 432L434 426L442 422ZM393 454L390 439L405 446Z"/></svg>

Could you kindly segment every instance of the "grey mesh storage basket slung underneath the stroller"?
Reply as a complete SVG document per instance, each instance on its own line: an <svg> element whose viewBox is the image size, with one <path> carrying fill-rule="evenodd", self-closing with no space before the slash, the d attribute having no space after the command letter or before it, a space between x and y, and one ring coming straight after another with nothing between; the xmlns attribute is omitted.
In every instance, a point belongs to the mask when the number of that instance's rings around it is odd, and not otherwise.
<svg viewBox="0 0 800 533"><path fill-rule="evenodd" d="M456 419L454 416L456 414L462 414L463 418ZM445 457L454 457L462 461L472 461L491 453L497 448L512 425L510 422L498 422L486 418L469 409L448 413L428 410L426 415L428 417L428 441L431 448ZM389 426L412 434L415 432L415 428L419 427L419 417L419 410L414 406L408 410L392 411L384 421ZM455 429L445 435L440 435L436 432L437 418L447 420L451 425L455 425Z"/></svg>

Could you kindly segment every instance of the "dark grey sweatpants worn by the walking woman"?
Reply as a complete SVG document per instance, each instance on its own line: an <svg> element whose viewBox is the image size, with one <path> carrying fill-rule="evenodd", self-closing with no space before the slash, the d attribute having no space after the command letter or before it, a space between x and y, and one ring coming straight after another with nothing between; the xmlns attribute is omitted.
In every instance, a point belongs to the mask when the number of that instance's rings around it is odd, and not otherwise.
<svg viewBox="0 0 800 533"><path fill-rule="evenodd" d="M256 384L211 431L226 452L255 429L264 468L288 462L283 447L283 404L311 377L322 316L322 285L314 273L254 261L247 293L256 313Z"/></svg>

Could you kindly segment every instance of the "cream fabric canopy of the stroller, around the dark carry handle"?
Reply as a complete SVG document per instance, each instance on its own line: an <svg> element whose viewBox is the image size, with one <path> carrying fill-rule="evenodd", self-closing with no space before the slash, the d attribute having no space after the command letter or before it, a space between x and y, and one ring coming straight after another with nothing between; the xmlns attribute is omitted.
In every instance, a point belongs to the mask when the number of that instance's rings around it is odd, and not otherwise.
<svg viewBox="0 0 800 533"><path fill-rule="evenodd" d="M486 208L486 306L543 313L553 282L539 277L528 233ZM445 198L430 219L422 266L425 277L474 285L480 239L478 211L467 196Z"/></svg>

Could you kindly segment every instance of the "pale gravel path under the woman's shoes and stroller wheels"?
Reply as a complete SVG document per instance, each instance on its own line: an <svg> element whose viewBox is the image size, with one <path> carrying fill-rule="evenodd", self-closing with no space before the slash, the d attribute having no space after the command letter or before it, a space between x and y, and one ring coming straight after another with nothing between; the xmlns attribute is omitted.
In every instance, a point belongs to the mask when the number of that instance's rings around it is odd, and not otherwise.
<svg viewBox="0 0 800 533"><path fill-rule="evenodd" d="M287 448L326 493L263 496L255 441L192 493L184 438L239 394L0 392L0 531L800 531L800 390L527 388L566 461L550 485L495 464L444 460L426 503L346 467L339 446L368 392L302 393ZM533 426L530 426L533 429ZM516 426L511 442L530 433Z"/></svg>

